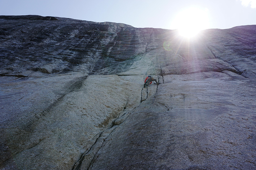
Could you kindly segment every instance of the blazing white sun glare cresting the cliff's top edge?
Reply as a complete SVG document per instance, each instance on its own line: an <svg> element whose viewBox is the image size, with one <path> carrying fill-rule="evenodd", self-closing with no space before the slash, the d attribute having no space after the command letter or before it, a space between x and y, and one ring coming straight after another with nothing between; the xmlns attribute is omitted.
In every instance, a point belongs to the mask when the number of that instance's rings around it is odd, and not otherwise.
<svg viewBox="0 0 256 170"><path fill-rule="evenodd" d="M208 9L189 7L180 11L175 17L172 27L178 29L179 34L191 38L201 30L209 28Z"/></svg>

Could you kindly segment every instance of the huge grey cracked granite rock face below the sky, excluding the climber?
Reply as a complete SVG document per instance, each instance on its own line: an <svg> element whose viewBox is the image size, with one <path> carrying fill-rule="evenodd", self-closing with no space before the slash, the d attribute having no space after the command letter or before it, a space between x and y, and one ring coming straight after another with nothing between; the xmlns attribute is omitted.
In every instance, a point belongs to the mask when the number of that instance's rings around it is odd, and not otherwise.
<svg viewBox="0 0 256 170"><path fill-rule="evenodd" d="M0 169L256 169L255 25L0 23Z"/></svg>

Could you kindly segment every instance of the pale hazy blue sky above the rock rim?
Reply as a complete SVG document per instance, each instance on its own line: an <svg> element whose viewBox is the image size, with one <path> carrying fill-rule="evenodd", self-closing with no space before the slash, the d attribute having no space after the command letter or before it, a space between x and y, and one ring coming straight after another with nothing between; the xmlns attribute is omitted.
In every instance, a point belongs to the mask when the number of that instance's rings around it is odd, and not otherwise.
<svg viewBox="0 0 256 170"><path fill-rule="evenodd" d="M176 29L183 13L190 25L226 29L256 24L256 0L0 0L0 15L41 15L95 22L117 22L134 27ZM175 24L176 20L176 24ZM188 23L188 21L184 21ZM189 25L188 25L189 26Z"/></svg>

